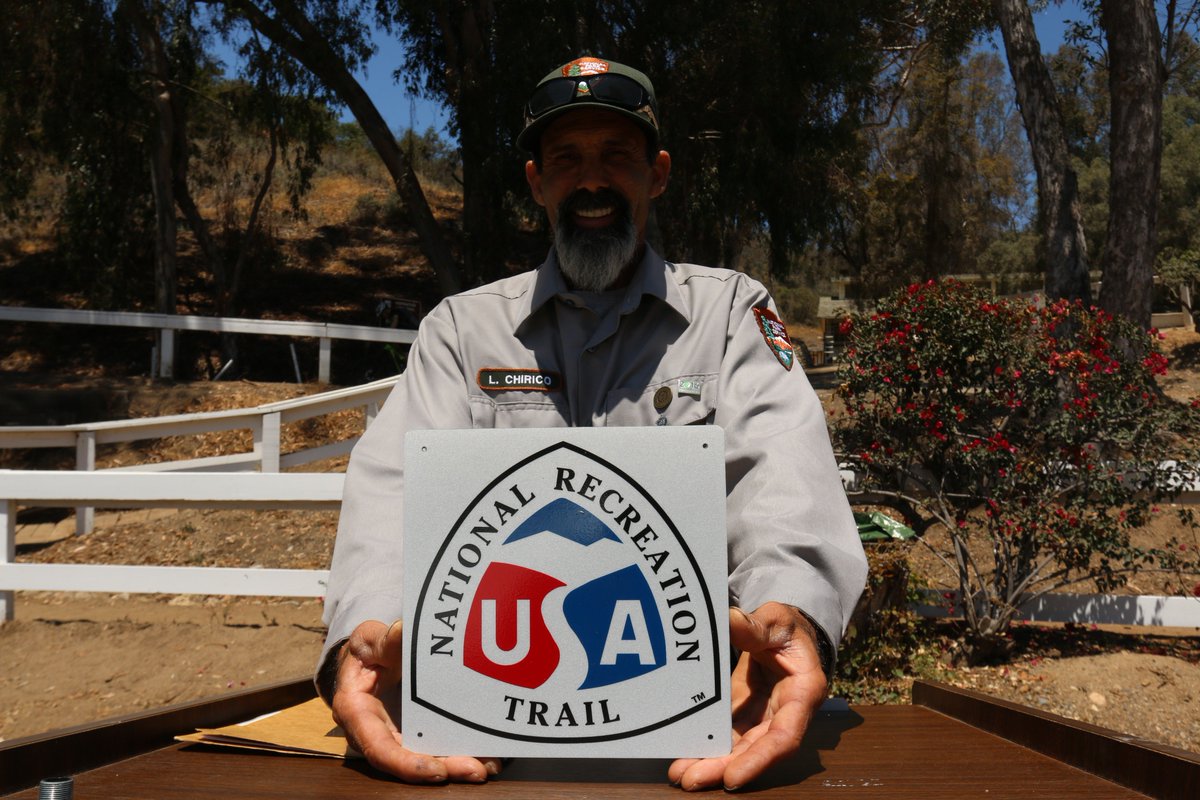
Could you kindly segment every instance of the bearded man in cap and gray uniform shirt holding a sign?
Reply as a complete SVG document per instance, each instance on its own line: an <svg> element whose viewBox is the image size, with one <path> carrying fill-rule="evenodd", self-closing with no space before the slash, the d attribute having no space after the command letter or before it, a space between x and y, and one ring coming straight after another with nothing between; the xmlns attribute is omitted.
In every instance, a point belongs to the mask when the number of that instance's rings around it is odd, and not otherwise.
<svg viewBox="0 0 1200 800"><path fill-rule="evenodd" d="M534 272L443 301L355 447L326 597L322 694L377 768L485 781L499 759L404 747L398 709L408 429L713 423L725 429L736 744L680 759L684 789L745 786L799 746L866 576L824 416L767 291L646 245L671 157L654 89L583 58L538 84L518 144L554 247ZM511 389L504 375L533 379ZM751 609L751 610L743 610Z"/></svg>

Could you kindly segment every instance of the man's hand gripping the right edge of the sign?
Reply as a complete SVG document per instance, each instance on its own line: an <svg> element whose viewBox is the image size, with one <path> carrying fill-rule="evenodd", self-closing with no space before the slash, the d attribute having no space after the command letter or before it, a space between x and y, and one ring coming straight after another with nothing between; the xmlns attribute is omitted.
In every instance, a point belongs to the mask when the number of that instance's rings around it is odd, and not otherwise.
<svg viewBox="0 0 1200 800"><path fill-rule="evenodd" d="M794 753L828 691L817 633L799 610L764 603L730 609L730 642L742 651L730 686L733 750L720 758L680 758L667 777L692 792L739 789Z"/></svg>

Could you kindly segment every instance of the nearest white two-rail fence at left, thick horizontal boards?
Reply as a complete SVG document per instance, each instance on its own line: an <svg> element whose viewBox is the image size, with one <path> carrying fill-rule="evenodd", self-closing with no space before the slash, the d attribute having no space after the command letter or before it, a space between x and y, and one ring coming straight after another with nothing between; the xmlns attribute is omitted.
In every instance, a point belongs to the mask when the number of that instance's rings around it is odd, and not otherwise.
<svg viewBox="0 0 1200 800"><path fill-rule="evenodd" d="M17 564L17 506L337 510L341 473L169 474L0 470L0 622L16 590L203 595L325 594L325 570Z"/></svg>

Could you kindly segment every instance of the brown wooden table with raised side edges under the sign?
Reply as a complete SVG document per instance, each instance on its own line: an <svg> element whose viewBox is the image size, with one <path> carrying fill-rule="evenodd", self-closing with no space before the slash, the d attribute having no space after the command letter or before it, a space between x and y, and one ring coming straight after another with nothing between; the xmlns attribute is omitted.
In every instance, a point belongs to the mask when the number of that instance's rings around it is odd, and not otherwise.
<svg viewBox="0 0 1200 800"><path fill-rule="evenodd" d="M486 786L407 787L361 762L163 744L311 697L306 681L0 746L0 792L36 798L73 774L76 798L680 798L665 760L518 759ZM937 684L913 705L821 714L802 751L746 793L940 800L1200 798L1200 757ZM140 754L133 754L138 753Z"/></svg>

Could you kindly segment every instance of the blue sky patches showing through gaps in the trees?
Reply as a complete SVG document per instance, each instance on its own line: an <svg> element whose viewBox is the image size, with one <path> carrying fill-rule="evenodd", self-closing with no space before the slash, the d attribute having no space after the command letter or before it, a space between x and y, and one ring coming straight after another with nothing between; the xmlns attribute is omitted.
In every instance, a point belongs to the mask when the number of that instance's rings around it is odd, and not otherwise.
<svg viewBox="0 0 1200 800"><path fill-rule="evenodd" d="M1067 20L1079 19L1081 16L1082 11L1076 0L1064 0L1061 6L1050 4L1049 8L1036 13L1033 23L1038 30L1042 50L1054 52L1058 49L1067 30ZM1000 37L995 36L994 40L994 46L1003 58L1004 48ZM424 132L432 126L443 136L448 136L445 109L432 101L412 97L402 85L392 79L392 72L402 64L403 59L400 43L395 37L379 35L376 38L376 44L378 46L377 53L356 77L388 121L388 126L397 133L408 127ZM228 52L222 52L220 56L227 65L235 62ZM342 119L343 121L353 121L353 116L344 109Z"/></svg>

